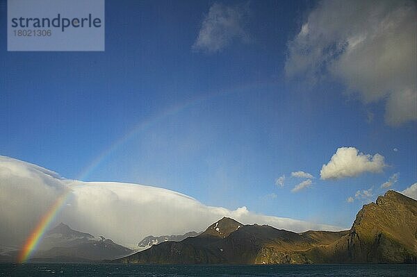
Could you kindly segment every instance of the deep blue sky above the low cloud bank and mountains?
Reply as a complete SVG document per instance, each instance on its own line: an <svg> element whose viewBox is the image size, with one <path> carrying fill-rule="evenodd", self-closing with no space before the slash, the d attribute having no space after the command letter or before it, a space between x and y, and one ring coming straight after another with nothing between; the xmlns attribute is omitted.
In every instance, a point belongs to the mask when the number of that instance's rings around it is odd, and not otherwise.
<svg viewBox="0 0 417 277"><path fill-rule="evenodd" d="M416 53L395 51L415 49L415 3L369 2L376 23L357 12L356 26L328 1L106 1L104 52L8 52L4 3L2 156L347 227L363 203L416 183L416 81L403 74L416 65L402 62ZM386 18L400 32L375 31ZM344 146L383 165L320 178ZM295 171L311 185L292 192L306 181Z"/></svg>

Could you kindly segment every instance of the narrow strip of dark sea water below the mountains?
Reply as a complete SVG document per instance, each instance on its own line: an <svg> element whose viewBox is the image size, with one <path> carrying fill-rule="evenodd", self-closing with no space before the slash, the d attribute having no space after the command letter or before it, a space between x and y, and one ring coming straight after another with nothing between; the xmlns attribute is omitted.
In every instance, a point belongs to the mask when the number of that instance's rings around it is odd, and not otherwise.
<svg viewBox="0 0 417 277"><path fill-rule="evenodd" d="M0 276L417 276L417 265L120 265L0 263Z"/></svg>

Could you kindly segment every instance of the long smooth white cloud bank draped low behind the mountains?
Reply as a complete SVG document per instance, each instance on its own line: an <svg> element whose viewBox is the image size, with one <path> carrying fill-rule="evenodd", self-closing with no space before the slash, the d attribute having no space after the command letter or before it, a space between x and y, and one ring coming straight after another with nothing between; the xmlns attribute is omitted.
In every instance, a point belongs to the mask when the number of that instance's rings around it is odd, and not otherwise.
<svg viewBox="0 0 417 277"><path fill-rule="evenodd" d="M258 215L246 207L229 210L204 205L196 199L158 187L127 183L87 183L60 178L54 172L0 156L0 241L21 246L56 198L69 190L60 221L76 230L104 235L135 246L147 235L201 231L226 216L243 224L268 224L301 232L339 230L324 224Z"/></svg>

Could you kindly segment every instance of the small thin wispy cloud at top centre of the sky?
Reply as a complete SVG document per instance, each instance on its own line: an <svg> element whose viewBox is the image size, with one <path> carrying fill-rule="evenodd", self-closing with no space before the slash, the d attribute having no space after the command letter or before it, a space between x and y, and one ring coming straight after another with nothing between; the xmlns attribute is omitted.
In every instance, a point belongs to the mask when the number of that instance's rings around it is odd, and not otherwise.
<svg viewBox="0 0 417 277"><path fill-rule="evenodd" d="M247 13L247 4L224 6L213 3L199 29L193 49L213 53L221 51L234 40L247 42L249 36L244 29Z"/></svg>

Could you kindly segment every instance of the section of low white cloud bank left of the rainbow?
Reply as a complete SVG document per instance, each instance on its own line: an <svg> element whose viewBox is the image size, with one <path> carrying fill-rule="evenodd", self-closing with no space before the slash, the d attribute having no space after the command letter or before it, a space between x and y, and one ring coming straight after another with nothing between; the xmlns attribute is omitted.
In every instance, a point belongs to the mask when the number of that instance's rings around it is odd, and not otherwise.
<svg viewBox="0 0 417 277"><path fill-rule="evenodd" d="M60 177L35 165L0 156L0 242L18 246L58 195Z"/></svg>

